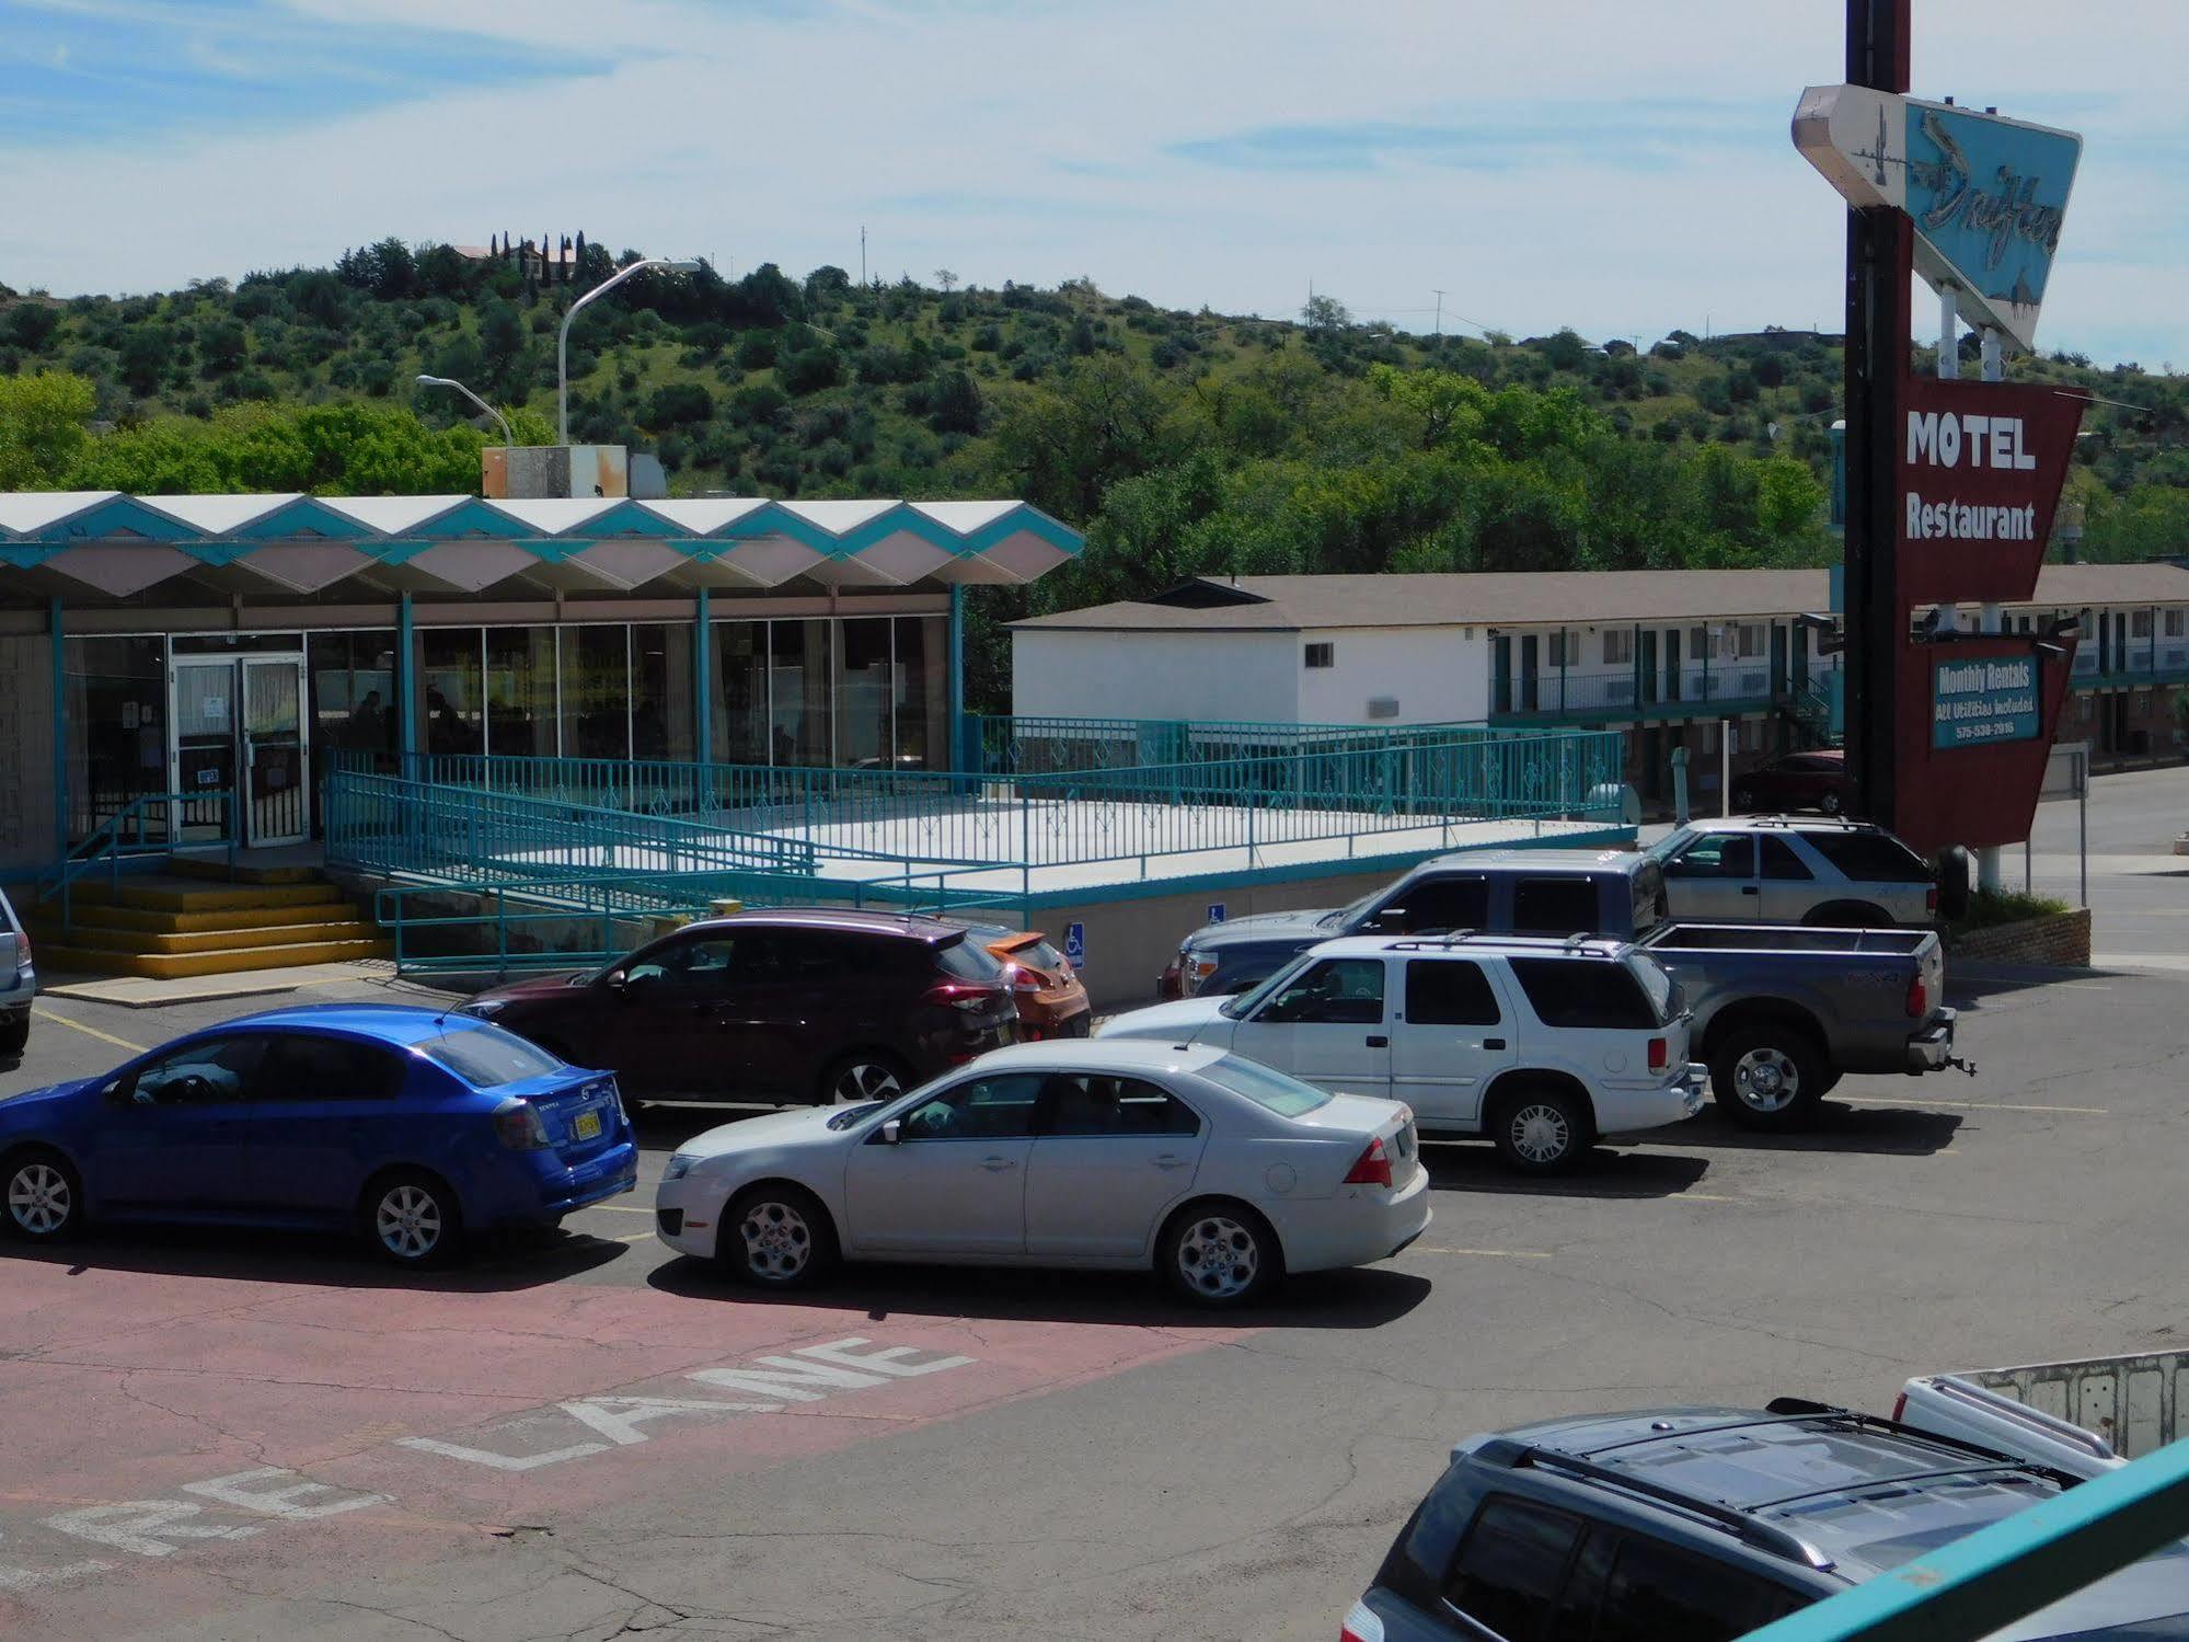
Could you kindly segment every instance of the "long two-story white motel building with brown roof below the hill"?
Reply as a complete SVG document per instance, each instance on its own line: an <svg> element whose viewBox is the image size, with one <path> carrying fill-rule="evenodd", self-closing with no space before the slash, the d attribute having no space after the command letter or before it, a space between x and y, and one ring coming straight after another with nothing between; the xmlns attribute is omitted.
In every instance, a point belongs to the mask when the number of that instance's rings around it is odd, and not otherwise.
<svg viewBox="0 0 2189 1642"><path fill-rule="evenodd" d="M1011 707L1064 714L1101 679L1119 718L1609 729L1664 810L1677 747L1716 795L1727 738L1734 775L1826 740L1839 657L1804 615L1828 606L1821 569L1197 578L1014 624ZM2060 740L2099 768L2182 758L2189 569L2047 565L2005 613L2023 633L2062 615L2082 644Z"/></svg>

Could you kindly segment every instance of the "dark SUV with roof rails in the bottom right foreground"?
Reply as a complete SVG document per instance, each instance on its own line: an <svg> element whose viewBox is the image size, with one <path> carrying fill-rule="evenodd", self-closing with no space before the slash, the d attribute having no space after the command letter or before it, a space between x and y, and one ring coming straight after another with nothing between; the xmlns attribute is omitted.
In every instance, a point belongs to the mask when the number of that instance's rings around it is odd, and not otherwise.
<svg viewBox="0 0 2189 1642"><path fill-rule="evenodd" d="M1799 1399L1524 1425L1453 1449L1342 1635L1723 1642L2075 1482ZM2189 1550L2169 1546L2012 1635L2189 1638Z"/></svg>

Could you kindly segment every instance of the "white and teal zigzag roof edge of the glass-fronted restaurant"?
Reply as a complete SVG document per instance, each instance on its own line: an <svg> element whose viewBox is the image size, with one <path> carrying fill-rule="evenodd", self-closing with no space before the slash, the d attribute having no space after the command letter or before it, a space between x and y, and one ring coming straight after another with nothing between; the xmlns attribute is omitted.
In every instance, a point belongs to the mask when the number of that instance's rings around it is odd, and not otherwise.
<svg viewBox="0 0 2189 1642"><path fill-rule="evenodd" d="M1084 547L1024 501L490 501L482 497L0 493L0 595L473 595L1016 585Z"/></svg>

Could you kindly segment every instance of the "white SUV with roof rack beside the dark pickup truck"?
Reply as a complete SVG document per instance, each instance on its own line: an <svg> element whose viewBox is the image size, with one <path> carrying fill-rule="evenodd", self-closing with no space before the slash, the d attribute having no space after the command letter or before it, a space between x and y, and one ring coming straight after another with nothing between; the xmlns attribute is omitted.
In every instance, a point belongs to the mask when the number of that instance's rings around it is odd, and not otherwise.
<svg viewBox="0 0 2189 1642"><path fill-rule="evenodd" d="M1351 935L1237 998L1182 998L1097 1038L1219 1044L1331 1092L1405 1101L1423 1138L1486 1134L1528 1173L1598 1136L1703 1106L1688 1014L1664 968L1624 941Z"/></svg>

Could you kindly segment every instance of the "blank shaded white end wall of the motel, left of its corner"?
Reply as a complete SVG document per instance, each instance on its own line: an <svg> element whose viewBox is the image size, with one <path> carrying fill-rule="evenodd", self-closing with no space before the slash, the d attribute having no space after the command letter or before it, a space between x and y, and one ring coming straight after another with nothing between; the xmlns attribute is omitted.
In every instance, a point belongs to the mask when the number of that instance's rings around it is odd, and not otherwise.
<svg viewBox="0 0 2189 1642"><path fill-rule="evenodd" d="M1011 712L1022 718L1300 720L1292 633L1011 633Z"/></svg>

